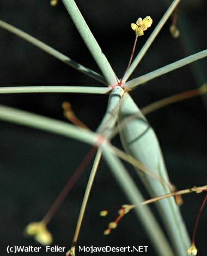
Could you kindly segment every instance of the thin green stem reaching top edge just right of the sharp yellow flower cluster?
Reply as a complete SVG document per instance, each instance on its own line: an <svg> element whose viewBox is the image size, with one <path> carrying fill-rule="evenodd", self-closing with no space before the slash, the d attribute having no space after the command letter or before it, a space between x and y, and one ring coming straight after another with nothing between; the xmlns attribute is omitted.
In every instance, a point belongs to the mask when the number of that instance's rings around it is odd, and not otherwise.
<svg viewBox="0 0 207 256"><path fill-rule="evenodd" d="M180 0L174 0L172 2L172 4L169 6L169 8L167 9L166 13L162 16L162 19L160 20L160 22L155 27L153 33L151 33L151 35L148 38L147 42L144 44L142 49L139 51L139 53L136 56L135 60L131 63L131 66L129 67L129 69L125 73L125 75L123 77L123 83L126 82L126 80L130 77L131 73L137 67L138 63L142 60L143 56L145 55L145 53L149 49L150 45L153 43L153 41L156 38L157 34L159 34L159 32L161 31L162 27L165 25L165 23L168 20L169 16L171 16L171 14L173 13L173 10L175 9L176 5L178 5L179 2L180 2Z"/></svg>

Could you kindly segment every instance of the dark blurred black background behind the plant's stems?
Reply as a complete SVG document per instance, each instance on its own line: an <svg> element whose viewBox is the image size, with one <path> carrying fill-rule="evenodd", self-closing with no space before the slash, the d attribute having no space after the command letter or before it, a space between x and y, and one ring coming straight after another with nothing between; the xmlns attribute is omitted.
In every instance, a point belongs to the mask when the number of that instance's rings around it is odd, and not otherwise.
<svg viewBox="0 0 207 256"><path fill-rule="evenodd" d="M132 78L205 49L205 1L181 2L178 12L180 38L172 38L169 33L172 21L168 21L132 74ZM138 52L167 6L167 1L161 0L89 0L76 3L118 77L126 68L135 38L130 28L131 22L147 15L153 18L153 26L138 39ZM57 7L51 7L50 1L46 0L1 0L0 13L2 20L53 46L82 65L100 72L62 2ZM151 80L132 91L131 96L139 107L144 107L163 97L197 88L206 82L205 68L206 61L200 60L194 65ZM99 85L93 79L2 28L0 70L1 86ZM64 120L61 104L63 101L70 101L77 117L95 130L105 113L107 99L106 95L19 94L1 95L1 104ZM148 115L148 120L160 140L171 181L179 189L206 184L206 109L206 97L196 97ZM2 121L0 125L0 255L7 255L7 245L36 245L32 239L23 236L23 229L29 222L39 221L44 216L90 147L74 139L28 127ZM118 137L114 139L114 144L120 146ZM89 172L88 167L48 225L54 237L54 245L70 248ZM132 168L130 173L143 190ZM147 199L149 196L144 190L143 193ZM203 198L204 194L184 196L181 212L190 235ZM155 255L153 246L133 212L127 214L111 235L102 235L107 224L117 216L118 208L127 202L123 191L102 161L78 245L147 245L149 250L145 255ZM99 212L105 209L110 214L105 218L99 217ZM198 255L206 254L206 229L205 208L196 238Z"/></svg>

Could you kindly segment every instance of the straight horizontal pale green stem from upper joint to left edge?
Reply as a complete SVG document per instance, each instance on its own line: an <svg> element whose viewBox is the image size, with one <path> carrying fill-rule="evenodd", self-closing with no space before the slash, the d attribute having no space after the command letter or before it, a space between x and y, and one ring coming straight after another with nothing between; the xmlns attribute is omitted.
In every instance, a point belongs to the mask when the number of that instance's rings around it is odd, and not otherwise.
<svg viewBox="0 0 207 256"><path fill-rule="evenodd" d="M0 94L31 94L42 92L71 92L82 94L107 94L111 91L108 87L89 87L89 86L62 86L62 85L42 85L42 86L15 86L0 87Z"/></svg>

